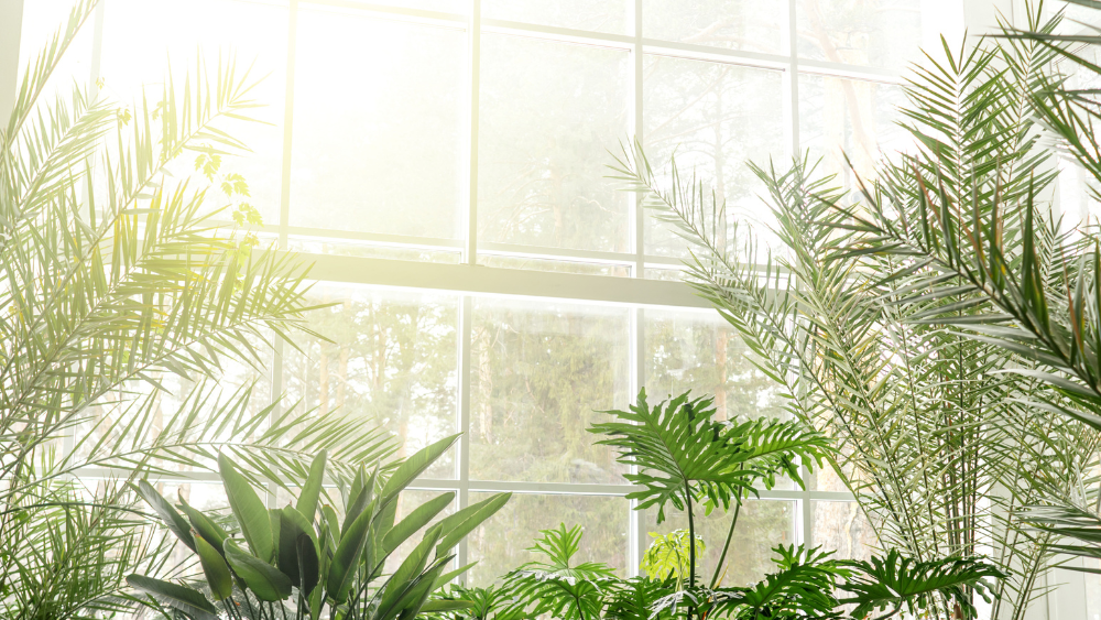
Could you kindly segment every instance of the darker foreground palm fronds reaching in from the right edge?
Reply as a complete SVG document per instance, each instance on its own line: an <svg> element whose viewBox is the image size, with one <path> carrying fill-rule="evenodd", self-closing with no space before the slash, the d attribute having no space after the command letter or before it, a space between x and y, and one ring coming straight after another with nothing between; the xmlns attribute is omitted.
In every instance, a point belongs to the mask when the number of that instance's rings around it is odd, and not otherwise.
<svg viewBox="0 0 1101 620"><path fill-rule="evenodd" d="M1099 2L1068 1L1101 17ZM1095 64L1101 36L1084 23L1071 30L1083 32L1059 34L1033 23L1005 28L1003 37L1012 45L1038 46L1058 59L1059 70L1090 85L1101 77ZM1044 137L1084 171L1086 189L1095 202L1101 182L1097 90L1058 81L1029 93L1029 105ZM849 251L893 264L892 276L908 271L918 285L898 303L928 307L928 323L948 325L962 337L1024 360L1005 372L1044 385L1026 404L1038 415L1053 416L1057 431L1047 448L1059 458L1073 449L1059 428L1089 428L1086 435L1101 431L1101 238L1095 219L1066 222L1050 215L1054 173L1016 178L1013 191L1006 191L1012 173L999 162L990 181L963 195L927 178L911 181L908 186L917 191L905 199L870 188L859 210L852 210ZM996 186L995 180L1001 182ZM906 181L900 175L900 185ZM949 312L961 300L968 301L969 312ZM1044 534L1060 537L1053 550L1101 558L1095 480L1067 487L1047 471L1038 478L1049 492L1023 515ZM1086 569L1098 572L1095 565Z"/></svg>

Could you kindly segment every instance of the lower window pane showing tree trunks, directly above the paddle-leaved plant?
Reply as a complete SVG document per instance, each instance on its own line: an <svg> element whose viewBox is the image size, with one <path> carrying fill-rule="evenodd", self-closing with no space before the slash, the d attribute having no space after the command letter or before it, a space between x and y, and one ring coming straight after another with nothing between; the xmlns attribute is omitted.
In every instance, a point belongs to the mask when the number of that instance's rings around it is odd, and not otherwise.
<svg viewBox="0 0 1101 620"><path fill-rule="evenodd" d="M307 315L334 340L295 336L283 389L291 402L381 423L402 442L400 456L455 433L458 303L446 295L316 286L310 303L336 304ZM455 476L455 450L425 476Z"/></svg>

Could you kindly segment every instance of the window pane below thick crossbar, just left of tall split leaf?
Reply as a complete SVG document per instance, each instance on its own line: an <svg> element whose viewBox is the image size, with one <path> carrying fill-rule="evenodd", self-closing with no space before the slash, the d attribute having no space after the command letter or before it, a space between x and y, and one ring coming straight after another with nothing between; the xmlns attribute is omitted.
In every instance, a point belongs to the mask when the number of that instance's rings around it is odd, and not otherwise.
<svg viewBox="0 0 1101 620"><path fill-rule="evenodd" d="M622 482L586 427L629 404L628 311L478 300L470 342L470 477Z"/></svg>

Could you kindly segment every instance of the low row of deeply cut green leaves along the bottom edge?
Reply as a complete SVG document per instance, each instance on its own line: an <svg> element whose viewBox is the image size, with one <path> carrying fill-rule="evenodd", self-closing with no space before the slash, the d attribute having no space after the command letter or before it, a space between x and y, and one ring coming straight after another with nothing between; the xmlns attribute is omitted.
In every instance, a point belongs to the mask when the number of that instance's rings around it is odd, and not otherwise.
<svg viewBox="0 0 1101 620"><path fill-rule="evenodd" d="M802 545L777 546L776 572L749 587L680 589L672 577L623 579L599 563L575 563L579 526L545 530L528 551L539 559L503 577L501 587L453 586L437 600L469 600L450 610L449 620L563 620L700 618L792 619L898 618L936 609L937 597L955 603L957 618L978 618L974 595L991 599L990 580L1003 575L978 559L947 558L918 563L890 552L871 561L833 559Z"/></svg>

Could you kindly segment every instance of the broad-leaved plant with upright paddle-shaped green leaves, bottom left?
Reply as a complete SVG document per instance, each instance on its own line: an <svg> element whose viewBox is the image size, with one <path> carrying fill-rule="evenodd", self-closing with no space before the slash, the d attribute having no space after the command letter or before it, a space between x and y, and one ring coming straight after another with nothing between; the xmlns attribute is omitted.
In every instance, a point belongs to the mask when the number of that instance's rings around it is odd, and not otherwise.
<svg viewBox="0 0 1101 620"><path fill-rule="evenodd" d="M432 523L455 499L442 493L408 510L397 521L401 492L457 439L446 437L407 459L389 477L377 467L361 468L342 497L342 518L323 503L326 453L314 460L296 502L266 509L260 494L225 455L219 472L232 520L229 530L216 515L181 500L181 514L144 480L139 492L179 541L198 555L203 590L143 575L130 575L132 587L162 609L193 620L227 618L329 618L406 620L421 612L458 609L466 601L428 601L428 597L469 566L450 570L459 541L493 515L511 497L498 493ZM186 516L185 516L186 514ZM386 569L395 551L424 530L417 545ZM209 595L209 598L208 596ZM212 599L212 601L211 601Z"/></svg>

